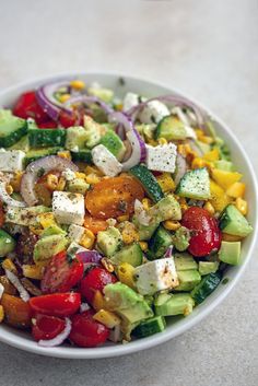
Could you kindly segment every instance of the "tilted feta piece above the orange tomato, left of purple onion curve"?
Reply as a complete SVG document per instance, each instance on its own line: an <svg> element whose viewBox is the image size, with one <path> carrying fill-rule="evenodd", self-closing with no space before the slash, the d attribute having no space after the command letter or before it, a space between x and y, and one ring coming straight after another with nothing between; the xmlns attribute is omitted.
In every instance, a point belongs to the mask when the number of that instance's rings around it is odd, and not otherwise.
<svg viewBox="0 0 258 386"><path fill-rule="evenodd" d="M122 165L103 144L98 144L92 149L92 160L94 165L96 165L105 176L115 177L121 173Z"/></svg>

